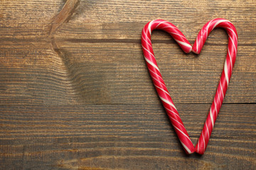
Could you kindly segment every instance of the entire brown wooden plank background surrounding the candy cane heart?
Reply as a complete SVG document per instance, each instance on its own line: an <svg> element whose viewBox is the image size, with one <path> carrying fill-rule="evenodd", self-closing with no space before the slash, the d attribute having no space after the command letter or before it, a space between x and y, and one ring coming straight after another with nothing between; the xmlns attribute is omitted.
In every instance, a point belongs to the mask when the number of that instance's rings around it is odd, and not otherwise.
<svg viewBox="0 0 256 170"><path fill-rule="evenodd" d="M0 3L0 169L256 168L254 0ZM191 44L212 18L238 30L237 61L203 156L183 152L144 62L141 30L157 18ZM196 144L228 36L213 30L198 56L162 31L152 42Z"/></svg>

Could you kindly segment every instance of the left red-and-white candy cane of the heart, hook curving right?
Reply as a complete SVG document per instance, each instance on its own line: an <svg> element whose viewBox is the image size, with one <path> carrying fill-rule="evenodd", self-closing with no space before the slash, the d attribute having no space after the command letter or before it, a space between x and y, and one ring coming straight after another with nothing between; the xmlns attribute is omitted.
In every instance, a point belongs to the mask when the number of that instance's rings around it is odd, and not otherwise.
<svg viewBox="0 0 256 170"><path fill-rule="evenodd" d="M178 135L178 139L181 141L181 145L187 154L192 154L194 152L194 146L191 142L190 137L188 136L188 132L184 127L180 116L178 115L178 111L174 106L174 102L169 95L169 92L164 84L164 79L161 77L161 73L159 71L159 67L156 64L156 59L154 56L152 44L151 44L151 32L154 29L165 30L169 33L181 49L188 53L191 52L192 47L188 42L186 37L181 33L174 24L169 23L164 20L154 20L146 24L142 30L142 50L144 52L144 58L146 60L146 65L149 69L149 74L151 75L151 79L156 88L157 94L161 99L161 103L163 104L169 119L171 120L171 124Z"/></svg>

